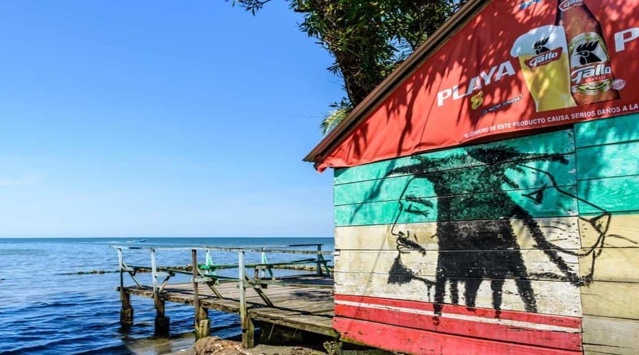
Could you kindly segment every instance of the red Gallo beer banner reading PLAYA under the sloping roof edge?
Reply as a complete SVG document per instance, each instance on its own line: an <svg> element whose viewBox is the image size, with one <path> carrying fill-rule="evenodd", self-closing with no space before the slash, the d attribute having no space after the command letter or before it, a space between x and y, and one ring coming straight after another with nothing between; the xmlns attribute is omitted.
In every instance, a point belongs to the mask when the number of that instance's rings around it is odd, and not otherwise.
<svg viewBox="0 0 639 355"><path fill-rule="evenodd" d="M496 0L317 168L633 112L639 0Z"/></svg>

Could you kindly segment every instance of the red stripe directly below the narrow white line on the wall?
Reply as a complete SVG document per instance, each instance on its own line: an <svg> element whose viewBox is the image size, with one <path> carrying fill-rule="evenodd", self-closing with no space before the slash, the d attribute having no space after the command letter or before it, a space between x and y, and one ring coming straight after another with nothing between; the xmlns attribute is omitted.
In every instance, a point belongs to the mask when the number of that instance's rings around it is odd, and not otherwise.
<svg viewBox="0 0 639 355"><path fill-rule="evenodd" d="M513 325L456 320L446 317L436 319L431 315L416 315L398 310L379 310L350 305L335 305L335 316L391 324L400 327L430 330L432 332L493 339L503 342L515 342L575 351L581 350L581 333L530 329L515 327Z"/></svg>

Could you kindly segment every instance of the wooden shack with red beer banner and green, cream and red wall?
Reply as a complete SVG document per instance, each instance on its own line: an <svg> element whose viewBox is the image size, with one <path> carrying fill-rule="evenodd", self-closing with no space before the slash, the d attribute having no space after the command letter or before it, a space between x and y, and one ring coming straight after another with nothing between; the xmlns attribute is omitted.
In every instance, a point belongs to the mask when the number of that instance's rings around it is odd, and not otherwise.
<svg viewBox="0 0 639 355"><path fill-rule="evenodd" d="M305 158L334 168L334 328L639 354L638 157L638 0L469 1Z"/></svg>

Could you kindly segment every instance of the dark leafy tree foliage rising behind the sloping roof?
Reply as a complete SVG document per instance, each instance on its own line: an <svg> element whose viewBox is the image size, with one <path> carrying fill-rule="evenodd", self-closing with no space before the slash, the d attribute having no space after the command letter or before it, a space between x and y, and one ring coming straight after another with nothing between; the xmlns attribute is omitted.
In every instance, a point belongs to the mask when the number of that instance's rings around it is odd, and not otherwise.
<svg viewBox="0 0 639 355"><path fill-rule="evenodd" d="M234 0L255 14L271 0ZM300 30L334 58L347 97L332 105L345 116L466 0L286 0L302 13ZM330 118L327 117L327 119ZM325 121L325 120L324 120ZM334 126L332 124L330 127ZM324 123L322 123L324 127Z"/></svg>

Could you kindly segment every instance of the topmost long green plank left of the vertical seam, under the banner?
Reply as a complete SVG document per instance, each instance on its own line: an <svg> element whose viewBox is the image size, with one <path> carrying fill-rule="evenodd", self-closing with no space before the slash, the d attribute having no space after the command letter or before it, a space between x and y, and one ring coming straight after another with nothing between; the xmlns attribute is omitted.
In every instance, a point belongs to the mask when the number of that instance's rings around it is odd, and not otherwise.
<svg viewBox="0 0 639 355"><path fill-rule="evenodd" d="M437 160L439 164L437 165L436 170L449 170L491 163L472 158L468 154L469 149L498 148L502 148L504 151L518 152L518 155L511 155L510 157L506 155L503 157L495 157L496 160L492 163L521 160L526 158L525 155L530 155L528 158L532 158L532 155L558 155L573 153L573 131L572 129L564 129L562 131L542 133L535 136L513 138L506 141L491 142L464 148L447 149L444 151L424 153L416 156L430 160ZM388 173L390 173L393 169L413 165L415 164L415 161L415 156L409 156L384 160L378 163L354 166L352 168L336 169L334 171L334 184L339 185L349 182L386 178Z"/></svg>

